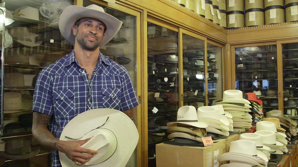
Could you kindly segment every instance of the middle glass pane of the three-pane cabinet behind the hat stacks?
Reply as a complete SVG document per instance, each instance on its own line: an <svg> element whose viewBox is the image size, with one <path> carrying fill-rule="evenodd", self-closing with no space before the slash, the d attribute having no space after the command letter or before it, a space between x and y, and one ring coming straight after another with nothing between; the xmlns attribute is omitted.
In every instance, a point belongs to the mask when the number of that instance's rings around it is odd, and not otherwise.
<svg viewBox="0 0 298 167"><path fill-rule="evenodd" d="M182 34L183 40L183 105L204 106L205 41Z"/></svg>

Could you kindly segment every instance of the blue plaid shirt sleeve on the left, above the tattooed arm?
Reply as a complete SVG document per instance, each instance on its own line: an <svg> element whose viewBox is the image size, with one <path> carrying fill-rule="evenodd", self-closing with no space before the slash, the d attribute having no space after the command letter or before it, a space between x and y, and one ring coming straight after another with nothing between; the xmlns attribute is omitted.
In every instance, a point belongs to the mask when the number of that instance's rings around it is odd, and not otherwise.
<svg viewBox="0 0 298 167"><path fill-rule="evenodd" d="M52 115L52 81L47 71L38 74L33 95L33 111Z"/></svg>

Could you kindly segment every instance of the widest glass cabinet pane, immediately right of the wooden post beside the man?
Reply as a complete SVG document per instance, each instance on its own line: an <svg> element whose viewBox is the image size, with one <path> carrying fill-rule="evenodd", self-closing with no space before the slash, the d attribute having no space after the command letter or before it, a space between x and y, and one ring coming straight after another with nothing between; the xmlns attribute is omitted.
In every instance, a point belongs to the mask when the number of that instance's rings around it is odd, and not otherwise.
<svg viewBox="0 0 298 167"><path fill-rule="evenodd" d="M148 22L148 166L156 166L155 145L169 140L166 123L176 121L178 33Z"/></svg>

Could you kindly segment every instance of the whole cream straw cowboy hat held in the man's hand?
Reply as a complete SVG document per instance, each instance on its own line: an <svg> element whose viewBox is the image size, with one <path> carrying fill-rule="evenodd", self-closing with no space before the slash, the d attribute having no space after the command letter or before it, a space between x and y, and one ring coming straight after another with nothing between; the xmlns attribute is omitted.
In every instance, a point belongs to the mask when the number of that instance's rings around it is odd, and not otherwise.
<svg viewBox="0 0 298 167"><path fill-rule="evenodd" d="M85 165L125 166L138 143L138 130L123 112L114 109L93 109L73 119L62 130L60 140L91 138L82 148L96 150ZM77 166L64 153L59 152L63 167Z"/></svg>

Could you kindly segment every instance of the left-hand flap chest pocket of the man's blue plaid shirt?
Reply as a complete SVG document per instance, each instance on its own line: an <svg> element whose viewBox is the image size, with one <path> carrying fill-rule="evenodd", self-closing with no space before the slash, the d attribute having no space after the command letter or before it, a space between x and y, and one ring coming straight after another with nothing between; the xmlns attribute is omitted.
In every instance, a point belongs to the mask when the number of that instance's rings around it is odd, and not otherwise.
<svg viewBox="0 0 298 167"><path fill-rule="evenodd" d="M56 116L74 116L74 90L65 89L53 92Z"/></svg>

